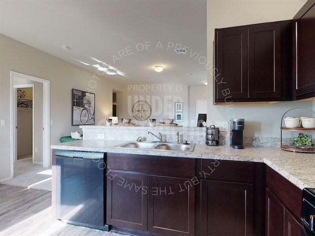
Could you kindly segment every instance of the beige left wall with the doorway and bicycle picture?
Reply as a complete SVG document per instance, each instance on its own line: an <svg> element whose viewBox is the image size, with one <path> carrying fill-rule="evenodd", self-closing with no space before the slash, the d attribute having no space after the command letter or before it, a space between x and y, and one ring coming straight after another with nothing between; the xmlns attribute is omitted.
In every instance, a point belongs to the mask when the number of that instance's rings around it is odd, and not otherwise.
<svg viewBox="0 0 315 236"><path fill-rule="evenodd" d="M57 49L56 49L57 50ZM10 171L10 71L50 81L51 143L59 143L61 136L81 131L71 126L71 89L95 93L95 124L112 114L112 90L121 86L61 59L0 34L0 180Z"/></svg>

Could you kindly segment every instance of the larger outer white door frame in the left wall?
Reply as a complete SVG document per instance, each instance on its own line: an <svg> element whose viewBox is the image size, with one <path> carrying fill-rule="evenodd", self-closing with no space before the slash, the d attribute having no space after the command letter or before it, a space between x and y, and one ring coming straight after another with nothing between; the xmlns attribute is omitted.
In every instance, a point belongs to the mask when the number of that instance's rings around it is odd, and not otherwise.
<svg viewBox="0 0 315 236"><path fill-rule="evenodd" d="M43 84L43 167L47 168L51 165L50 163L50 81L37 78L30 75L21 74L15 71L11 71L11 128L10 128L10 177L13 178L13 163L15 156L15 108L16 108L16 96L15 88L13 85L13 78L22 78L30 81L40 82Z"/></svg>

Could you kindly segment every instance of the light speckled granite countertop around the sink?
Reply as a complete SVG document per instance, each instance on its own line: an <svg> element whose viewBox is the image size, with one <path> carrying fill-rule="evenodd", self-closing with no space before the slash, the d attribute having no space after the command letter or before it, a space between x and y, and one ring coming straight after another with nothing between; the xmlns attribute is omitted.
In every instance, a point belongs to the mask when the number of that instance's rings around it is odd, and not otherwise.
<svg viewBox="0 0 315 236"><path fill-rule="evenodd" d="M169 151L115 148L126 141L79 140L51 145L52 149L115 152L126 154L160 155L186 158L219 159L233 161L263 162L287 178L300 189L315 187L315 155L285 151L271 147L245 147L233 149L229 146L207 146L196 144L194 151Z"/></svg>

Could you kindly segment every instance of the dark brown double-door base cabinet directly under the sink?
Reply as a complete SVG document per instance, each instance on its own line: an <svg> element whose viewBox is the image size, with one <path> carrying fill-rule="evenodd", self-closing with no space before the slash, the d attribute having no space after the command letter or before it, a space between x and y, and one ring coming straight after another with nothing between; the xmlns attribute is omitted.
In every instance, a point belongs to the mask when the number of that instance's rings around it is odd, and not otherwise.
<svg viewBox="0 0 315 236"><path fill-rule="evenodd" d="M195 235L195 160L107 153L107 219L143 236Z"/></svg>

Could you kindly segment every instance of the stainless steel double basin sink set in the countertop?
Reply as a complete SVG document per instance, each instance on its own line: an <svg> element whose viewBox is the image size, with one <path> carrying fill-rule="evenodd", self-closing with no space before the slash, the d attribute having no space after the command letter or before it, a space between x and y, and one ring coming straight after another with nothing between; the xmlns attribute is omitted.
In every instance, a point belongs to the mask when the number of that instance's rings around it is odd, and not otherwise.
<svg viewBox="0 0 315 236"><path fill-rule="evenodd" d="M163 142L128 142L117 145L115 148L130 149L151 149L151 150L171 150L171 151L193 151L195 144L176 144Z"/></svg>

